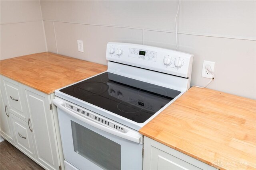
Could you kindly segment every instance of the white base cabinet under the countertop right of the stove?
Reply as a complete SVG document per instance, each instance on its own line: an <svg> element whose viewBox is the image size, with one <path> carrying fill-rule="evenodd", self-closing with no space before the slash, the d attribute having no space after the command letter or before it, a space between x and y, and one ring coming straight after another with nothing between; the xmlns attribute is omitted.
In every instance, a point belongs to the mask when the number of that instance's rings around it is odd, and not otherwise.
<svg viewBox="0 0 256 170"><path fill-rule="evenodd" d="M178 150L144 137L144 170L217 170Z"/></svg>

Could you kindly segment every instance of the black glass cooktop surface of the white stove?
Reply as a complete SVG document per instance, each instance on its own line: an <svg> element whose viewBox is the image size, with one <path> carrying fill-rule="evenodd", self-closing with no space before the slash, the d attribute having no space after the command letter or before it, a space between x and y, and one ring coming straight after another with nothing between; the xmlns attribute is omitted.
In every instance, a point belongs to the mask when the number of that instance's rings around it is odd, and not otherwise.
<svg viewBox="0 0 256 170"><path fill-rule="evenodd" d="M141 82L110 72L60 90L137 123L143 123L180 91Z"/></svg>

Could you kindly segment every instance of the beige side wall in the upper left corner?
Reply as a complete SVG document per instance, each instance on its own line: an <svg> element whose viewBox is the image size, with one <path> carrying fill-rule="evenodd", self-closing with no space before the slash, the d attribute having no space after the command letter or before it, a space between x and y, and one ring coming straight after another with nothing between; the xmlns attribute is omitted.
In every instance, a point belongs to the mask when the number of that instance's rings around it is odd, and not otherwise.
<svg viewBox="0 0 256 170"><path fill-rule="evenodd" d="M39 0L0 1L0 59L47 51Z"/></svg>

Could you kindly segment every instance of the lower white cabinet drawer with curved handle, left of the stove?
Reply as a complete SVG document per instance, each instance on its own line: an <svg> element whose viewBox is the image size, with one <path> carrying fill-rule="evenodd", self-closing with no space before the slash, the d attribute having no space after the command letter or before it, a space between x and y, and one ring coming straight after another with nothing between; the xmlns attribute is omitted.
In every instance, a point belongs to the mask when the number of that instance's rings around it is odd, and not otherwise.
<svg viewBox="0 0 256 170"><path fill-rule="evenodd" d="M16 146L34 158L34 147L32 143L32 132L28 127L28 123L20 118L12 115L12 125L14 129L14 136L16 138Z"/></svg>

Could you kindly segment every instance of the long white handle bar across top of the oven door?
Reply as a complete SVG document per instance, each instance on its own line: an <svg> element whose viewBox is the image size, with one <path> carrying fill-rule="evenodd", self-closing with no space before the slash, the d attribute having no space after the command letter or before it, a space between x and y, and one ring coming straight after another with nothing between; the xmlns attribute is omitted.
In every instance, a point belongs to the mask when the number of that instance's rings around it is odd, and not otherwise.
<svg viewBox="0 0 256 170"><path fill-rule="evenodd" d="M100 130L105 131L107 133L110 133L112 135L115 135L115 136L127 139L129 141L133 141L133 142L142 144L142 135L139 134L137 131L135 132L135 131L132 131L132 130L128 130L125 133L122 133L120 131L116 131L114 129L111 129L109 127L101 125L101 124L99 124L97 122L94 122L94 121L92 121L90 119L86 119L85 117L82 117L81 115L78 115L77 113L71 111L70 109L67 109L64 106L64 102L62 102L59 99L55 98L55 99L52 100L52 102L53 102L53 104L55 106L57 106L59 109L62 109L65 113L68 113L72 117L75 117L76 119L78 119L80 121L83 121L84 123L87 123L88 125L96 127L97 129L100 129Z"/></svg>

